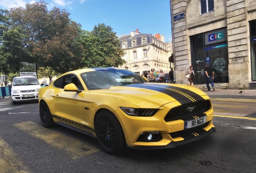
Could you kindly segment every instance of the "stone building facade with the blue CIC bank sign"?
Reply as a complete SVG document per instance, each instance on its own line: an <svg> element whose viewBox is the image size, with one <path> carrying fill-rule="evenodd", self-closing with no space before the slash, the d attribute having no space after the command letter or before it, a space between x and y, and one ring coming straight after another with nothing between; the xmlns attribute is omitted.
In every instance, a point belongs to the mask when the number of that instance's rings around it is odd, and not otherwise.
<svg viewBox="0 0 256 173"><path fill-rule="evenodd" d="M170 0L174 74L206 88L204 67L210 62L217 88L251 89L256 82L255 0ZM252 88L254 89L254 88Z"/></svg>

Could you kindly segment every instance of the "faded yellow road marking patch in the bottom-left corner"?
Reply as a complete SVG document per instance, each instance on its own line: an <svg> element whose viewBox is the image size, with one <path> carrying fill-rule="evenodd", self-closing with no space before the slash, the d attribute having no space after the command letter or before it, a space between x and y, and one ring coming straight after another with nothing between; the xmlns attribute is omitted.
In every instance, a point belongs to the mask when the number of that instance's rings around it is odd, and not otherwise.
<svg viewBox="0 0 256 173"><path fill-rule="evenodd" d="M29 173L12 148L0 137L0 173Z"/></svg>

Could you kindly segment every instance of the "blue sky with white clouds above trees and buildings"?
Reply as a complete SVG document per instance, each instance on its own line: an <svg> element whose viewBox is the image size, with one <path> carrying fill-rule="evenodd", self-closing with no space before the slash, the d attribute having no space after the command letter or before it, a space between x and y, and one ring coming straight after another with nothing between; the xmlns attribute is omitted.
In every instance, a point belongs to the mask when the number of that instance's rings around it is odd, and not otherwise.
<svg viewBox="0 0 256 173"><path fill-rule="evenodd" d="M0 0L0 8L25 7L39 0ZM70 18L93 30L97 24L111 26L118 36L136 29L143 34L165 36L171 41L170 0L44 0L48 10L53 6L66 9Z"/></svg>

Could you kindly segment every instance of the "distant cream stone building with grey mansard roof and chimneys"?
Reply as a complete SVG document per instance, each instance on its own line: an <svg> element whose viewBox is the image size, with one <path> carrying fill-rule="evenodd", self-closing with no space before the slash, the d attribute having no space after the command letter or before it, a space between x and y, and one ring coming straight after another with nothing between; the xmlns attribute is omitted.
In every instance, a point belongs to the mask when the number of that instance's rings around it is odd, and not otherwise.
<svg viewBox="0 0 256 173"><path fill-rule="evenodd" d="M124 60L126 63L120 66L131 70L137 74L142 74L145 70L150 72L151 68L163 71L170 70L169 48L164 42L164 36L160 34L142 34L136 31L118 37L120 47L124 50ZM169 50L169 52L168 52Z"/></svg>

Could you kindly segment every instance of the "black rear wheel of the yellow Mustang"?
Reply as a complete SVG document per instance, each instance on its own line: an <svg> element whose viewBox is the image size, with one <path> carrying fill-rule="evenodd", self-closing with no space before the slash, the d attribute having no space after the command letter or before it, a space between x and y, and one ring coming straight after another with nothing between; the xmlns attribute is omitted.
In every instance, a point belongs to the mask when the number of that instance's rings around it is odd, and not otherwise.
<svg viewBox="0 0 256 173"><path fill-rule="evenodd" d="M44 127L49 128L54 125L54 121L52 119L52 114L49 110L49 107L44 101L40 102L39 105L39 115L41 119L41 123Z"/></svg>

